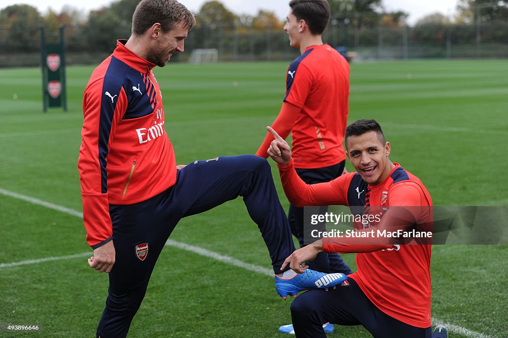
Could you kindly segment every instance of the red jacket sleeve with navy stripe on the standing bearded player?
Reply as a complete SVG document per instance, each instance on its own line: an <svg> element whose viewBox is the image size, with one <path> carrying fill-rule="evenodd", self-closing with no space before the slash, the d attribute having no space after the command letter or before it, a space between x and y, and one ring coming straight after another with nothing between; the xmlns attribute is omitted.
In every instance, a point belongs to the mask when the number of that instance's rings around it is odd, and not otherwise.
<svg viewBox="0 0 508 338"><path fill-rule="evenodd" d="M120 90L116 105L103 102L103 81L91 83L83 96L83 129L79 149L78 171L83 200L83 222L88 244L96 249L111 239L113 226L109 216L107 193L107 153L119 119L126 109L127 98ZM114 108L113 108L114 107ZM102 117L101 117L102 113ZM102 126L101 126L102 124ZM100 133L101 131L103 134ZM104 132L109 136L106 139ZM105 146L101 150L101 144Z"/></svg>

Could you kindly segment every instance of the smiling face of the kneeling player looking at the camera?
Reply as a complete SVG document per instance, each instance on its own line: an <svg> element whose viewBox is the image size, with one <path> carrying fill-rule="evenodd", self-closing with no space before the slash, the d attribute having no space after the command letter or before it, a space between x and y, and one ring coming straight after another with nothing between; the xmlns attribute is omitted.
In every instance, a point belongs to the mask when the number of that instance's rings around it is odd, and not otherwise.
<svg viewBox="0 0 508 338"><path fill-rule="evenodd" d="M347 137L346 147L347 158L370 186L383 182L394 167L388 158L390 143L383 144L375 131Z"/></svg>

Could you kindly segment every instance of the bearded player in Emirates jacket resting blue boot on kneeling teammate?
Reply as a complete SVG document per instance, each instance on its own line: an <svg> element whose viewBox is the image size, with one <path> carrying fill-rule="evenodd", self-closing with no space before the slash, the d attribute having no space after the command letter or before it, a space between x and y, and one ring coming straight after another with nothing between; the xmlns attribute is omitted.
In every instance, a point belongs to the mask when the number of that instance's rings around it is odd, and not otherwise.
<svg viewBox="0 0 508 338"><path fill-rule="evenodd" d="M97 337L127 335L178 221L238 196L265 240L281 296L332 288L346 279L310 269L302 274L280 269L295 248L265 159L215 157L177 169L153 68L183 52L195 24L194 15L175 0L142 0L131 37L117 41L85 88L78 170L86 239L93 249L88 264L109 273ZM191 273L203 278L199 271ZM326 285L318 283L323 278Z"/></svg>

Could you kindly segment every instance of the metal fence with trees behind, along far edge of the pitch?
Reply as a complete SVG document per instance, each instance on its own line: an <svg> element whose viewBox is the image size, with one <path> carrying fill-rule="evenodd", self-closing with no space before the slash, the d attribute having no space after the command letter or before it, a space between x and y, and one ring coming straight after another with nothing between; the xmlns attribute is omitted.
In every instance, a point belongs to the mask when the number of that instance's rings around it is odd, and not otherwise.
<svg viewBox="0 0 508 338"><path fill-rule="evenodd" d="M25 35L0 27L0 67L39 66L40 30L23 27ZM115 47L115 39L128 38L129 31L84 38L86 26L66 27L68 64L97 64ZM130 27L129 27L130 29ZM51 39L51 32L48 39ZM346 46L357 60L411 58L506 58L508 19L481 24L433 24L389 27L378 24L359 27L350 20L331 21L323 34L326 43ZM291 60L299 50L289 46L282 29L213 25L195 27L185 40L185 53L175 58L186 62L197 48L218 50L220 62Z"/></svg>

